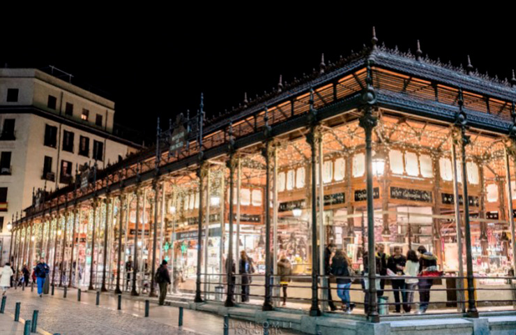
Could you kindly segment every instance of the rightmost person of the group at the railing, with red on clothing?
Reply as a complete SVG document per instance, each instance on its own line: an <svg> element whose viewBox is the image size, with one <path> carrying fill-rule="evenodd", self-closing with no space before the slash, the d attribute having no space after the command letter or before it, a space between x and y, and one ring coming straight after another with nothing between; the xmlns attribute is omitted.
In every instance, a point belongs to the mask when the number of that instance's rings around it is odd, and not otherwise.
<svg viewBox="0 0 516 335"><path fill-rule="evenodd" d="M437 271L437 257L427 251L424 246L419 246L419 271L423 278L419 279L419 311L418 314L423 314L427 311L428 303L430 301L430 289L434 283L432 276L439 276Z"/></svg>

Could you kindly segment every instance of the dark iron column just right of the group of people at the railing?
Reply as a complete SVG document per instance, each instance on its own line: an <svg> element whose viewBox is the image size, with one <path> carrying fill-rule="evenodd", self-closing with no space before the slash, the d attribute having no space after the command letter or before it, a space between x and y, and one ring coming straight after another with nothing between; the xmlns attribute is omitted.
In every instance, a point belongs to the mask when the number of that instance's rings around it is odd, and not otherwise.
<svg viewBox="0 0 516 335"><path fill-rule="evenodd" d="M468 282L468 316L478 318L478 311L475 301L475 287L473 286L473 257L471 255L471 227L469 225L469 197L468 197L468 174L466 169L466 145L470 143L469 136L466 135L466 113L462 110L464 100L462 89L459 89L457 100L460 112L456 115L456 124L460 126L460 147L462 157L462 197L464 199L464 235L466 238L466 271Z"/></svg>

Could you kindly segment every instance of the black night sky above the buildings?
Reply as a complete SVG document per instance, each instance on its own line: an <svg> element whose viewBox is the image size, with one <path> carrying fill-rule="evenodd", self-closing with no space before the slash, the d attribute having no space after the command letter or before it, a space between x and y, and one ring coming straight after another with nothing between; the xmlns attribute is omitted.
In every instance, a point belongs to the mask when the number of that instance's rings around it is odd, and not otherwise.
<svg viewBox="0 0 516 335"><path fill-rule="evenodd" d="M509 17L486 22L468 15L411 15L387 21L317 6L304 8L302 15L248 10L238 19L162 11L93 11L77 20L61 14L24 22L3 17L0 64L51 64L72 73L76 82L108 92L116 103L116 123L144 131L151 140L156 117L197 110L201 92L208 116L218 114L241 103L245 91L249 96L271 91L280 74L290 82L318 68L323 52L327 63L370 45L373 25L379 43L388 47L414 51L419 39L432 59L465 65L470 54L480 72L501 78L516 67L515 24Z"/></svg>

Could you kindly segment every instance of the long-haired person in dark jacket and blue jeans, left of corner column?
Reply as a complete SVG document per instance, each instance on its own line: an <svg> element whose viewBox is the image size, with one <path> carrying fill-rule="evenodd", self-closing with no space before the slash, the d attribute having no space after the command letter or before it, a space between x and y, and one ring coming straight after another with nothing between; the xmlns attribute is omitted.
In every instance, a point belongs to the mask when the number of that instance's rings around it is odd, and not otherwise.
<svg viewBox="0 0 516 335"><path fill-rule="evenodd" d="M350 268L351 260L349 257L342 249L337 249L331 262L331 274L337 277L337 295L342 300L342 311L347 314L351 314L354 308L354 304L351 304L349 297L349 288L351 288Z"/></svg>

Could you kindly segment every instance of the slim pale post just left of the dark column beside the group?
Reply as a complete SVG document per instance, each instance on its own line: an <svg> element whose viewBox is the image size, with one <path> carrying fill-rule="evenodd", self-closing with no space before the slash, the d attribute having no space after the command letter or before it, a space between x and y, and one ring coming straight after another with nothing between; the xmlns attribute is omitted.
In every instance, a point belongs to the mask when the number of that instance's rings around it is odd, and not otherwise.
<svg viewBox="0 0 516 335"><path fill-rule="evenodd" d="M460 300L459 304L457 304L457 308L462 313L466 312L466 304L464 304L464 265L462 262L462 221L460 218L460 202L459 202L459 184L457 181L458 173L457 173L457 153L455 150L455 142L451 143L452 148L452 172L453 172L453 198L455 204L455 229L457 230L457 257L459 258L459 277L460 279L457 281L457 300Z"/></svg>

